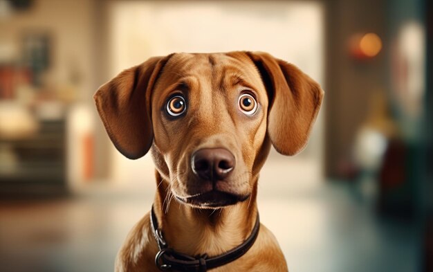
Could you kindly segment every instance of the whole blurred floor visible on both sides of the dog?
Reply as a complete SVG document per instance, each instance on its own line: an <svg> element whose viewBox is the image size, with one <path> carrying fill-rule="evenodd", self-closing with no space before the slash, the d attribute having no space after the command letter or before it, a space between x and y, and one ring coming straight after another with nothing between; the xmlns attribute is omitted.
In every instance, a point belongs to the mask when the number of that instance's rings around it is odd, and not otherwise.
<svg viewBox="0 0 433 272"><path fill-rule="evenodd" d="M291 271L418 271L415 226L375 217L352 185L331 182L294 194L290 186L260 187L261 220ZM153 194L147 185L93 186L68 199L2 201L0 270L113 271L118 248Z"/></svg>

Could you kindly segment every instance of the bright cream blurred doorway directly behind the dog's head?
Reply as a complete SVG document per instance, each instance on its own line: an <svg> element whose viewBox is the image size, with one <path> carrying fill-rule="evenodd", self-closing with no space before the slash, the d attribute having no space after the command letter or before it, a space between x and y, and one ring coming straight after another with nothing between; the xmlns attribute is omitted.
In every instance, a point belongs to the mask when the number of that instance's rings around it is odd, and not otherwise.
<svg viewBox="0 0 433 272"><path fill-rule="evenodd" d="M315 1L111 2L110 76L154 55L246 50L266 51L292 62L322 83L323 17L324 8ZM273 182L262 187L281 189L282 185L293 184L295 189L305 189L323 181L322 116L323 108L302 154L287 158L271 153L261 176ZM113 180L153 185L154 170L149 156L129 161L111 148ZM281 176L287 178L282 180Z"/></svg>

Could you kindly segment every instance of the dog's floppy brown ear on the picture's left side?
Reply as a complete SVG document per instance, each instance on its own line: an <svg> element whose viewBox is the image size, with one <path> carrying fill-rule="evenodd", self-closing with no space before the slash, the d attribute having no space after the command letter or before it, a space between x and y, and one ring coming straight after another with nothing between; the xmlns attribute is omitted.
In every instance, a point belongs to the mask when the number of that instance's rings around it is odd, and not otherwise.
<svg viewBox="0 0 433 272"><path fill-rule="evenodd" d="M122 71L102 85L93 98L111 141L127 158L145 156L154 139L150 96L158 74L171 55L152 57Z"/></svg>

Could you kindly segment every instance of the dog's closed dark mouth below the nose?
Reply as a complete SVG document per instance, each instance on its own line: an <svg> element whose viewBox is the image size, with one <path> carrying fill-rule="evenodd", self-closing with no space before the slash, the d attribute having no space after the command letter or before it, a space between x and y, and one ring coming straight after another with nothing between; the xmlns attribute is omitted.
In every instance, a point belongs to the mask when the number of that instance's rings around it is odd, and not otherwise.
<svg viewBox="0 0 433 272"><path fill-rule="evenodd" d="M176 196L176 199L198 208L222 208L234 205L238 202L246 201L248 197L250 197L250 194L238 195L230 192L211 190L210 192L195 194L191 197Z"/></svg>

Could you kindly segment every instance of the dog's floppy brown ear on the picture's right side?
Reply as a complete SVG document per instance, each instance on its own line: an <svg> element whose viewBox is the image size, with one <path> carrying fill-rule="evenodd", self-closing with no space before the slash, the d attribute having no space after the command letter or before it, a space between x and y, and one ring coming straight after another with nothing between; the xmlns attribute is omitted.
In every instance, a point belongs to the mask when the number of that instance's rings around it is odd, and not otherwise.
<svg viewBox="0 0 433 272"><path fill-rule="evenodd" d="M268 91L268 136L277 152L294 155L308 141L324 92L300 69L268 53L247 52Z"/></svg>

